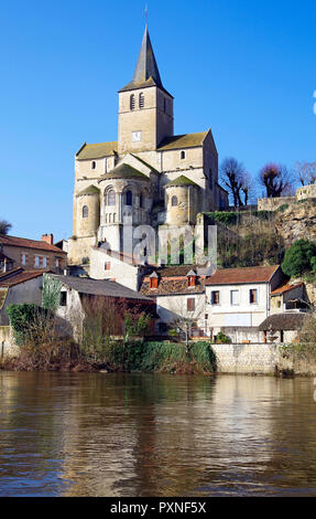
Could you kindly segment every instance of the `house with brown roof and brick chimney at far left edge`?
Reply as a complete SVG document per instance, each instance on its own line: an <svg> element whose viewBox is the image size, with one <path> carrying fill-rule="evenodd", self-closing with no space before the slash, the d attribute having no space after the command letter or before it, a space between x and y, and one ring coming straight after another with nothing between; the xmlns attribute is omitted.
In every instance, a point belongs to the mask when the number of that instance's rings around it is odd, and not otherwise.
<svg viewBox="0 0 316 519"><path fill-rule="evenodd" d="M53 245L53 234L43 234L41 241L0 234L0 272L21 266L62 273L66 264L67 253Z"/></svg>

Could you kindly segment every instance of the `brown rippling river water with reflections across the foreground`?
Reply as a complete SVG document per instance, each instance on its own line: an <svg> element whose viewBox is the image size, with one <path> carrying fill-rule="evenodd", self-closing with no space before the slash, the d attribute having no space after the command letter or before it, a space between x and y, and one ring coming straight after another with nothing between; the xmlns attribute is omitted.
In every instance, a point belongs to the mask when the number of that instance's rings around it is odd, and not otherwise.
<svg viewBox="0 0 316 519"><path fill-rule="evenodd" d="M0 371L0 496L316 496L313 382Z"/></svg>

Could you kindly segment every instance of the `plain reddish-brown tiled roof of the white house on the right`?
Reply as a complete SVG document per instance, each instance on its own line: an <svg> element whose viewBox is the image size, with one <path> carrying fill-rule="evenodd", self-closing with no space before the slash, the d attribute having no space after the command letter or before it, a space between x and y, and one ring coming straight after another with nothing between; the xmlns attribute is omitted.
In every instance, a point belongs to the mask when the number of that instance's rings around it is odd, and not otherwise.
<svg viewBox="0 0 316 519"><path fill-rule="evenodd" d="M207 279L206 285L238 285L243 283L268 283L279 265L268 267L222 268Z"/></svg>

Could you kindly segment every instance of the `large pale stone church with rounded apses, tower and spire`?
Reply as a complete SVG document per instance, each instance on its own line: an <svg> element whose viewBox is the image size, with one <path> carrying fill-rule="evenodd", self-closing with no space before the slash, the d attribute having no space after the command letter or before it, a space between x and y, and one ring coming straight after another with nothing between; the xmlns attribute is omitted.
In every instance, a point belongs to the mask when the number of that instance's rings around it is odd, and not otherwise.
<svg viewBox="0 0 316 519"><path fill-rule="evenodd" d="M198 213L228 206L211 130L174 135L173 103L146 27L133 78L119 91L118 140L85 142L75 157L70 264L99 242L121 251L124 224L194 225Z"/></svg>

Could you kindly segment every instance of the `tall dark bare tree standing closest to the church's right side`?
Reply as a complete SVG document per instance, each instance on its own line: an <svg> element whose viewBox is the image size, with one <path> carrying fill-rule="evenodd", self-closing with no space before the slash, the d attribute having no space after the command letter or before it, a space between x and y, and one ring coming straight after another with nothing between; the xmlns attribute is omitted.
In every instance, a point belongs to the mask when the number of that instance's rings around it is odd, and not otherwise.
<svg viewBox="0 0 316 519"><path fill-rule="evenodd" d="M233 157L224 159L219 168L221 183L232 195L233 206L247 205L249 191L249 174L242 162L238 162ZM241 192L244 194L244 202L241 200Z"/></svg>

